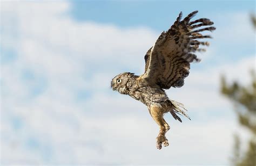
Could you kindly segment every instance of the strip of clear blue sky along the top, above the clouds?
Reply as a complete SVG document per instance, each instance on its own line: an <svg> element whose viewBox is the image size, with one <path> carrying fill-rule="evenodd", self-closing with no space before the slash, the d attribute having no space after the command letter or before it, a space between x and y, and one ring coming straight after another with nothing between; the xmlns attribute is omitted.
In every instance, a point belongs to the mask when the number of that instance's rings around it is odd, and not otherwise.
<svg viewBox="0 0 256 166"><path fill-rule="evenodd" d="M254 1L75 1L70 14L78 21L96 21L122 27L147 26L163 31L180 11L199 10L200 15L220 12L253 12ZM225 19L225 16L223 17Z"/></svg>

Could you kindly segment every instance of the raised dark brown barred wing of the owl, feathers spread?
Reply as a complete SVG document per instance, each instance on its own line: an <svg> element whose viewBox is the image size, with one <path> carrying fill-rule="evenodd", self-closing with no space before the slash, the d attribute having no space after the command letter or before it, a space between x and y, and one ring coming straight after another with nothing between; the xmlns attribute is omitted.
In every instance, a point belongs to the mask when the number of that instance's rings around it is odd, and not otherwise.
<svg viewBox="0 0 256 166"><path fill-rule="evenodd" d="M212 25L213 22L207 18L190 21L198 11L190 13L181 20L180 12L177 20L167 32L162 32L156 43L145 55L145 73L140 79L145 79L152 86L169 89L184 85L184 78L188 76L190 63L199 62L196 51L204 51L200 45L208 46L208 42L201 42L197 39L211 38L210 35L203 35L198 32L213 31L215 27L201 26Z"/></svg>

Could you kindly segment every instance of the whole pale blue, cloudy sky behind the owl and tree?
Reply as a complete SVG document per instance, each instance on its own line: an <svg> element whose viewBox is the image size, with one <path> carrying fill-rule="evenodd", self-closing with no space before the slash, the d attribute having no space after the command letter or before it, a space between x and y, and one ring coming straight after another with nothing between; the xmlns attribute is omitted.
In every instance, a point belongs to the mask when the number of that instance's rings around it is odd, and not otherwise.
<svg viewBox="0 0 256 166"><path fill-rule="evenodd" d="M255 1L1 1L1 164L227 165L246 142L220 76L250 83ZM181 88L191 120L165 115L169 147L146 106L110 88L143 74L144 55L180 11L217 28ZM244 143L243 148L246 148Z"/></svg>

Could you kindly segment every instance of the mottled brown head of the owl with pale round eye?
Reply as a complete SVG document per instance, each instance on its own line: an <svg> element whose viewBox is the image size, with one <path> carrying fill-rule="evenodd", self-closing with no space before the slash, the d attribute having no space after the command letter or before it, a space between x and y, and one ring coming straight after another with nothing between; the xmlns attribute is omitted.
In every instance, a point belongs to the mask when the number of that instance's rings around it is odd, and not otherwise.
<svg viewBox="0 0 256 166"><path fill-rule="evenodd" d="M133 73L125 72L117 75L114 77L111 81L111 88L113 90L117 90L119 93L124 95L129 95L129 87L131 77L133 76Z"/></svg>

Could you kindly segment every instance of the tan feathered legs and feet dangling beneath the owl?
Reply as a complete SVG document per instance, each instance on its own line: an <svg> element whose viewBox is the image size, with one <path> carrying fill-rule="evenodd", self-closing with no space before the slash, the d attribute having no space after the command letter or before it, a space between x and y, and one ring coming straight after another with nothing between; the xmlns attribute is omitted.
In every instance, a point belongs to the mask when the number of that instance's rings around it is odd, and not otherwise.
<svg viewBox="0 0 256 166"><path fill-rule="evenodd" d="M164 143L164 146L168 146L169 143L165 137L165 133L169 130L170 126L164 120L163 112L159 107L150 107L150 114L160 128L159 134L157 136L157 148L161 149L162 143Z"/></svg>

